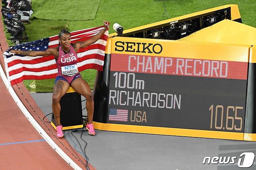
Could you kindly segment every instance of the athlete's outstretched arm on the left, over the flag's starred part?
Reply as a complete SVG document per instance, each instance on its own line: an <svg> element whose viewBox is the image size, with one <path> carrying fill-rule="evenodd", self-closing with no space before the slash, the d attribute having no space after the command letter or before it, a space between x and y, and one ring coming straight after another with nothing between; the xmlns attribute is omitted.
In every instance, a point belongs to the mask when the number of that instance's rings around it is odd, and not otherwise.
<svg viewBox="0 0 256 170"><path fill-rule="evenodd" d="M14 54L21 54L23 56L31 56L31 57L36 57L36 56L56 56L57 55L57 49L56 48L49 48L44 51L21 51L21 50L11 50L12 53Z"/></svg>

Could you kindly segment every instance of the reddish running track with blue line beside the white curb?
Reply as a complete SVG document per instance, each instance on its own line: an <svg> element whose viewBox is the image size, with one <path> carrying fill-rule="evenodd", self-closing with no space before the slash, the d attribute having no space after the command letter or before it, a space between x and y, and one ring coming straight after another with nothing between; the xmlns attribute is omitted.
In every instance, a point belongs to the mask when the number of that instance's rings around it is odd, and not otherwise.
<svg viewBox="0 0 256 170"><path fill-rule="evenodd" d="M1 7L0 7L1 9ZM1 16L1 15L0 15ZM3 24L0 22L0 64L4 69L2 52L8 49ZM56 138L56 130L44 123L44 114L37 106L23 82L12 86L19 99L33 118L79 167L86 169L84 158L74 150L65 138ZM17 106L0 78L0 169L73 169L43 139ZM91 170L94 170L91 165Z"/></svg>

